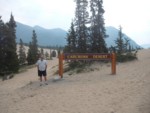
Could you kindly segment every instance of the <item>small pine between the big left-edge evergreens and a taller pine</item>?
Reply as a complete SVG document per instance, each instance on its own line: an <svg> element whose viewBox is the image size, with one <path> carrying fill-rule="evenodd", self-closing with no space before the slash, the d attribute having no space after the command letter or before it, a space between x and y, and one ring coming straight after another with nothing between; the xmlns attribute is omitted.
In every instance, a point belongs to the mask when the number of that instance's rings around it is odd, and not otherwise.
<svg viewBox="0 0 150 113"><path fill-rule="evenodd" d="M22 39L20 39L20 47L19 47L19 64L23 65L26 62L26 53L23 45Z"/></svg>

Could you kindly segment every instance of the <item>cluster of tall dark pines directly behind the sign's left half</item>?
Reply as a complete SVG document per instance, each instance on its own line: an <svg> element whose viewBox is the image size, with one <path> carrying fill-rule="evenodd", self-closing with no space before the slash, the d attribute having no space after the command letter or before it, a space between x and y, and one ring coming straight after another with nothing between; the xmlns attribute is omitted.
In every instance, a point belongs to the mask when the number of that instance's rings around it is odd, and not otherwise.
<svg viewBox="0 0 150 113"><path fill-rule="evenodd" d="M68 31L65 52L107 53L103 0L75 0L75 2L75 18Z"/></svg>

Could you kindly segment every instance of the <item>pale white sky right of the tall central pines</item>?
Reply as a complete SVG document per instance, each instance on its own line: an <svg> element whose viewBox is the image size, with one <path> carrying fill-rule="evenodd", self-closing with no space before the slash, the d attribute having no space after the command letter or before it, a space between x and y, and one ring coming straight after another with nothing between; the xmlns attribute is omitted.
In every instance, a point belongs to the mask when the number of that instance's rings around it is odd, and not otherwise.
<svg viewBox="0 0 150 113"><path fill-rule="evenodd" d="M150 42L149 0L104 0L106 26L121 25L138 44Z"/></svg>

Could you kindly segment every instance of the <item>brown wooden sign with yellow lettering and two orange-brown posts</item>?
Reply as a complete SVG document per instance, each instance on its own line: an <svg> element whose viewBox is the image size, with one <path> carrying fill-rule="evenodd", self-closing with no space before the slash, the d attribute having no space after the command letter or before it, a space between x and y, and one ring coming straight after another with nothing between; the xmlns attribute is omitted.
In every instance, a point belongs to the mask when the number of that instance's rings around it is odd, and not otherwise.
<svg viewBox="0 0 150 113"><path fill-rule="evenodd" d="M116 55L100 53L65 53L59 55L59 76L63 77L63 60L111 60L112 75L116 74Z"/></svg>

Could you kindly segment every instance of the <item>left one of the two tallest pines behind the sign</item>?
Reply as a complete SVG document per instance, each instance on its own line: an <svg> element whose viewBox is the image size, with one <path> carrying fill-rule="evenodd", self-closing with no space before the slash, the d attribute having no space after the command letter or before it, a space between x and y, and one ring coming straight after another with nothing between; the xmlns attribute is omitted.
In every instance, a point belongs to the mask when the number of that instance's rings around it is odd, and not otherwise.
<svg viewBox="0 0 150 113"><path fill-rule="evenodd" d="M75 27L77 36L77 52L87 52L87 37L88 29L86 24L88 23L89 13L87 11L87 0L75 0L76 13L75 13Z"/></svg>

